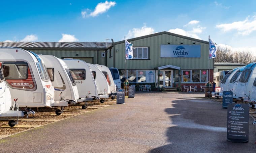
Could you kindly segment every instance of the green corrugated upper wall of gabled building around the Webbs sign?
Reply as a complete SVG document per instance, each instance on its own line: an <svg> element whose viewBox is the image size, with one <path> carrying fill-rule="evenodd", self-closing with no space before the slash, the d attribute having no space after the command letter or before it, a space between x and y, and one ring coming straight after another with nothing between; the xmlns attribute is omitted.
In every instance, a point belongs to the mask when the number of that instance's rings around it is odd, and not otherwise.
<svg viewBox="0 0 256 153"><path fill-rule="evenodd" d="M152 69L163 65L179 66L181 69L209 69L209 44L188 40L172 35L158 35L140 40L131 41L133 47L150 47L150 60L127 60L127 69ZM201 45L201 58L160 58L160 45ZM115 45L115 67L125 69L125 45ZM213 69L213 59L210 60L210 69Z"/></svg>

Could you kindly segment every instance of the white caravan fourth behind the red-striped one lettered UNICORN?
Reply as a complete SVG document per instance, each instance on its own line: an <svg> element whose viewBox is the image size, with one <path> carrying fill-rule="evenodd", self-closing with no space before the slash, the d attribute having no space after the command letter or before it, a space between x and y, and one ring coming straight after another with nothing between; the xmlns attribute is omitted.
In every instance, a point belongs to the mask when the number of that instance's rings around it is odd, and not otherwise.
<svg viewBox="0 0 256 153"><path fill-rule="evenodd" d="M94 64L94 65L96 65L101 70L101 72L105 75L105 78L107 79L107 83L110 89L110 93L108 94L111 96L111 98L112 97L115 98L115 95L117 94L117 86L113 80L110 70L105 65L98 65L98 64Z"/></svg>

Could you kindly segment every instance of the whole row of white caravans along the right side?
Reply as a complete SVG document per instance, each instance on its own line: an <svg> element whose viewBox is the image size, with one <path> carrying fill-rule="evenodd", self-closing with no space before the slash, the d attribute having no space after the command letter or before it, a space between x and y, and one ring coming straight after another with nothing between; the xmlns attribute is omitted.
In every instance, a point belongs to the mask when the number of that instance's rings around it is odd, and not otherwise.
<svg viewBox="0 0 256 153"><path fill-rule="evenodd" d="M221 90L232 91L234 98L255 101L256 63L250 63L229 71L221 81Z"/></svg>

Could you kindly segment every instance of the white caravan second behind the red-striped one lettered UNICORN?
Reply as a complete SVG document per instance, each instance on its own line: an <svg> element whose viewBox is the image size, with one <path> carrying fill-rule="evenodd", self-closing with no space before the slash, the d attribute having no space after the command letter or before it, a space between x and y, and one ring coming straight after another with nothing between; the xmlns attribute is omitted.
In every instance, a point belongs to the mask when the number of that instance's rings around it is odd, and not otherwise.
<svg viewBox="0 0 256 153"><path fill-rule="evenodd" d="M65 58L63 61L67 64L73 75L79 98L98 98L98 88L90 66L85 61L79 59Z"/></svg>

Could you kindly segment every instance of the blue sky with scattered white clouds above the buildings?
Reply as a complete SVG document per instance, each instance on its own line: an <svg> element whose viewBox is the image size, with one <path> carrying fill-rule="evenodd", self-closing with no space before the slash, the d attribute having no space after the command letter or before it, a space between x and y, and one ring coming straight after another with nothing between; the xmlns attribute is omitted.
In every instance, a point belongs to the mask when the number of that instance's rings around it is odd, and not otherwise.
<svg viewBox="0 0 256 153"><path fill-rule="evenodd" d="M116 42L169 31L254 51L255 6L255 0L2 1L0 41Z"/></svg>

